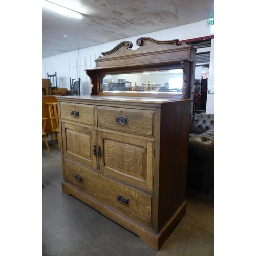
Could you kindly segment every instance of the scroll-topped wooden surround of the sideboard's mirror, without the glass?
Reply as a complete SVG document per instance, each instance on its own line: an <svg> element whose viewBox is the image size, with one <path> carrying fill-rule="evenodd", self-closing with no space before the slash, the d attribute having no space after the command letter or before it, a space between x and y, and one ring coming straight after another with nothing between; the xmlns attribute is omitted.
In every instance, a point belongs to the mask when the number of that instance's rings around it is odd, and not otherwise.
<svg viewBox="0 0 256 256"><path fill-rule="evenodd" d="M131 96L155 98L181 98L191 97L191 84L194 84L196 49L185 43L178 44L179 40L157 41L149 37L142 37L136 41L139 46L132 48L132 42L124 41L108 52L102 52L95 60L96 68L86 69L91 79L91 95L102 96ZM100 76L108 74L128 74L138 72L161 71L167 69L183 70L182 93L141 93L141 92L100 92Z"/></svg>

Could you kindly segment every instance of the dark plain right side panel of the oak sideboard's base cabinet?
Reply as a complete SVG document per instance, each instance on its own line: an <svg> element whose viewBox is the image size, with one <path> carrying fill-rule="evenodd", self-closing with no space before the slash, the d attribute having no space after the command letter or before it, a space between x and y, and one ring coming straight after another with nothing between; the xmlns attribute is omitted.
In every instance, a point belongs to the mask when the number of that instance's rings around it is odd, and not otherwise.
<svg viewBox="0 0 256 256"><path fill-rule="evenodd" d="M190 104L161 110L158 231L185 201Z"/></svg>

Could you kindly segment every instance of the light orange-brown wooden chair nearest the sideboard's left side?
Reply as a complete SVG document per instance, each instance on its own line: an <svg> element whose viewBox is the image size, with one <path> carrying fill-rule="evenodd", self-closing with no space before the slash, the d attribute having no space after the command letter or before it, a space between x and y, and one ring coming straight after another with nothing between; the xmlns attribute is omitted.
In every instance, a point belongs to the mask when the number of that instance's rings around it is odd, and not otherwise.
<svg viewBox="0 0 256 256"><path fill-rule="evenodd" d="M53 137L58 141L60 150L60 138L59 138L59 118L58 118L58 103L57 102L46 102L49 108L49 115L52 125L50 145L52 143ZM55 134L55 136L54 136Z"/></svg>

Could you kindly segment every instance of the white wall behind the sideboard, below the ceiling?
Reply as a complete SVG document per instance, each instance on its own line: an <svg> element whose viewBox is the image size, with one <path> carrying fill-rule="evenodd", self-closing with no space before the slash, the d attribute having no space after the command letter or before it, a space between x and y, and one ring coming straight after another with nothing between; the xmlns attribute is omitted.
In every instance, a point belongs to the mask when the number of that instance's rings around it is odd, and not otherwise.
<svg viewBox="0 0 256 256"><path fill-rule="evenodd" d="M83 48L77 51L63 53L59 55L55 55L48 58L42 59L42 78L47 78L47 72L52 75L57 72L57 84L58 87L70 89L70 77L81 78L81 95L89 95L91 91L91 83L90 78L86 75L84 69L94 68L95 67L95 59L97 59L101 52L109 51L113 49L117 44L122 41L131 41L133 43L133 50L137 49L136 40L140 37L151 37L160 41L164 40L186 40L191 38L203 37L213 35L214 31L212 27L207 27L207 20L202 20L201 22L191 23L175 28L160 30L153 33L143 34L140 36L125 38L122 40L117 40L113 42L108 42L106 44L92 46L88 48ZM101 55L102 56L102 55ZM213 39L212 39L212 47L211 47L211 56L213 59ZM210 60L210 71L212 66L213 72L213 63ZM212 73L213 74L213 73ZM213 78L208 79L208 88L210 92L213 93ZM212 98L212 102L211 102ZM207 98L207 106L212 105L213 113L213 97ZM208 108L206 108L207 111Z"/></svg>

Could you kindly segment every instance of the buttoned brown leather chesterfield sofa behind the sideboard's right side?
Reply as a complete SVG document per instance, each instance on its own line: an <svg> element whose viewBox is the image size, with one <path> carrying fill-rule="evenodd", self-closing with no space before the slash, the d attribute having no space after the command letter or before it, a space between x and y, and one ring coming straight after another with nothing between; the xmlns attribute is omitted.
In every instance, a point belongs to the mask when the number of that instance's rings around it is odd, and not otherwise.
<svg viewBox="0 0 256 256"><path fill-rule="evenodd" d="M192 119L187 186L207 193L214 186L214 114L195 114Z"/></svg>

